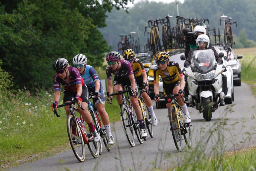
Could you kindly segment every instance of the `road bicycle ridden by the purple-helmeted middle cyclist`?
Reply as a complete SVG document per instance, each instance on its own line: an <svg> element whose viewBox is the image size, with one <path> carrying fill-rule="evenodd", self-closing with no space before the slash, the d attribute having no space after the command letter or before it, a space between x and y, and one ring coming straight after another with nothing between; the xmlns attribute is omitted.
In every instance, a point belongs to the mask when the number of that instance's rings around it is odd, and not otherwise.
<svg viewBox="0 0 256 171"><path fill-rule="evenodd" d="M144 139L140 132L140 123L137 119L136 114L133 112L133 107L130 101L129 93L133 95L133 90L131 86L125 86L125 90L119 91L117 93L112 93L112 94L109 94L107 92L107 96L110 97L110 96L122 95L122 101L123 101L123 104L121 106L122 123L125 129L125 135L128 139L128 142L131 145L131 147L134 147L135 134L140 144L143 144Z"/></svg>

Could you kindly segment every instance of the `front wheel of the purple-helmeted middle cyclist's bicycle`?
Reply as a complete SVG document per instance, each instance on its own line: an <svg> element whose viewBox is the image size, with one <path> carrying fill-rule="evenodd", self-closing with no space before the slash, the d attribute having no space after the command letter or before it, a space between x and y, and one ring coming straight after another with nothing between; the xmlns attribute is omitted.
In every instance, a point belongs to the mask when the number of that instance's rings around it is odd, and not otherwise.
<svg viewBox="0 0 256 171"><path fill-rule="evenodd" d="M129 114L128 106L122 104L121 106L122 123L125 130L125 135L131 147L135 146L135 132L132 125L131 116Z"/></svg>

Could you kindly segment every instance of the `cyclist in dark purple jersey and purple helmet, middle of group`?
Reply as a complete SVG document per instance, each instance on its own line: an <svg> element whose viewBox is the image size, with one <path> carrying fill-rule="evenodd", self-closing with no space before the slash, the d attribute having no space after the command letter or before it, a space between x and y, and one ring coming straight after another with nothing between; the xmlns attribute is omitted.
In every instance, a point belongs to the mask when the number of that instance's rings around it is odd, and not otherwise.
<svg viewBox="0 0 256 171"><path fill-rule="evenodd" d="M134 90L134 96L131 96L131 103L134 107L137 119L140 122L140 131L142 133L142 137L147 136L147 132L145 130L145 125L143 123L143 116L140 110L140 106L138 103L138 87L134 78L134 73L131 68L130 62L126 60L121 60L121 55L118 52L109 52L106 55L106 61L108 61L108 66L106 68L106 74L108 78L108 92L110 94L113 93L113 85L112 85L112 76L114 77L114 90L115 92L122 91L125 85L131 86ZM110 97L112 99L112 97ZM116 95L116 100L121 108L122 106L122 95Z"/></svg>

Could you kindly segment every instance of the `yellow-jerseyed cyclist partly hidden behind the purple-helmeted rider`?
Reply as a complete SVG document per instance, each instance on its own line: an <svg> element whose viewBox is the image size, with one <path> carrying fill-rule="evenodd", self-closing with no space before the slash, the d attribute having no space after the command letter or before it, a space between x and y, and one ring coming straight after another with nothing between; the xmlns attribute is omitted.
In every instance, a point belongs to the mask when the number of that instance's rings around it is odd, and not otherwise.
<svg viewBox="0 0 256 171"><path fill-rule="evenodd" d="M153 110L152 101L146 92L148 91L148 77L145 72L145 68L143 67L142 62L139 59L135 58L135 53L133 49L125 50L123 57L125 60L131 63L131 68L134 72L137 85L139 87L143 87L143 89L141 90L141 96L143 97L145 104L150 111L153 126L157 126L157 117L155 116Z"/></svg>

